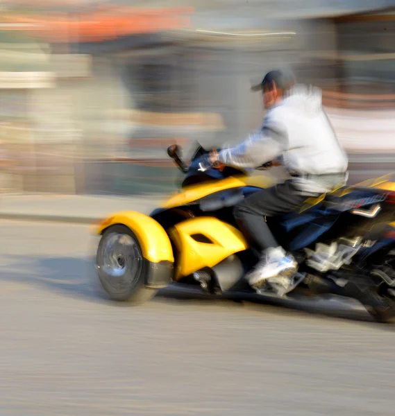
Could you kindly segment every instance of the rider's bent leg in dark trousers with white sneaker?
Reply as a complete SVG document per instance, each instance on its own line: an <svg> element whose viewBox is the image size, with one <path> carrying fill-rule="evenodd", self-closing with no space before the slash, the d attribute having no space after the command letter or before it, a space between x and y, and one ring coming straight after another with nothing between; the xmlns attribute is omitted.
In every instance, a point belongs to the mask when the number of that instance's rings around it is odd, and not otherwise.
<svg viewBox="0 0 395 416"><path fill-rule="evenodd" d="M296 261L280 247L264 220L264 216L276 216L294 211L305 201L305 196L296 192L287 181L275 187L262 189L245 198L235 207L235 218L251 246L258 250L261 260L247 279L251 286L260 286L264 281L282 277L286 285L296 271ZM288 279L284 279L288 276Z"/></svg>

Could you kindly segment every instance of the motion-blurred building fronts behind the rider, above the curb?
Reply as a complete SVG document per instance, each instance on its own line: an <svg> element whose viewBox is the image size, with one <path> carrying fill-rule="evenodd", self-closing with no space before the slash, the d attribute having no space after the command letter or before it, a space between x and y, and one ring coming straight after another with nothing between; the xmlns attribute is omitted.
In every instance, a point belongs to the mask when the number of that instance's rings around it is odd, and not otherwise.
<svg viewBox="0 0 395 416"><path fill-rule="evenodd" d="M242 139L275 67L323 90L351 183L395 171L395 0L297 4L1 1L1 192L173 191L167 146Z"/></svg>

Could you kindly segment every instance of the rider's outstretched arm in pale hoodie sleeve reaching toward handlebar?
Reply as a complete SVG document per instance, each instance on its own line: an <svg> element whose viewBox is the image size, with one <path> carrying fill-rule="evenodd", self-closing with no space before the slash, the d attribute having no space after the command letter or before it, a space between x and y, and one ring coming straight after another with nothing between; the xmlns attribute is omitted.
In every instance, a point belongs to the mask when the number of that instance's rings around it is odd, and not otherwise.
<svg viewBox="0 0 395 416"><path fill-rule="evenodd" d="M219 162L236 168L256 168L280 156L287 148L287 133L283 125L267 117L258 132L234 148L219 152Z"/></svg>

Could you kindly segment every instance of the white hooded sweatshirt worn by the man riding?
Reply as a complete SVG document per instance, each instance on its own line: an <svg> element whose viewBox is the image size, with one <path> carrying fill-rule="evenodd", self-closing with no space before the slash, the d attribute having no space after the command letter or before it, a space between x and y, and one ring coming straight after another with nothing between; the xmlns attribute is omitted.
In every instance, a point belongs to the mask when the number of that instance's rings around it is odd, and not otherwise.
<svg viewBox="0 0 395 416"><path fill-rule="evenodd" d="M322 108L320 89L295 85L267 111L257 132L219 153L219 162L237 168L256 168L273 159L298 175L292 182L301 193L324 193L345 184L348 159Z"/></svg>

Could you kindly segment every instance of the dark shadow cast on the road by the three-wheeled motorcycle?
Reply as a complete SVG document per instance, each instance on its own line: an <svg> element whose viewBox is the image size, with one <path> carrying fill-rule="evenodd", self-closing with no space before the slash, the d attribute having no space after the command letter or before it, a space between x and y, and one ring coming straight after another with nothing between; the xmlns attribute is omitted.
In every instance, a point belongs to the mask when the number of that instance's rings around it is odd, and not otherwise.
<svg viewBox="0 0 395 416"><path fill-rule="evenodd" d="M87 302L130 306L128 302L113 302L108 299L96 277L93 258L13 256L8 257L8 260L8 265L0 268L0 281L37 285L47 291ZM171 302L172 305L182 307L192 304L201 304L202 307L217 304L225 307L258 308L282 314L305 313L364 324L374 322L367 311L352 301L283 300L253 293L231 293L213 297L199 288L178 284L160 290L152 302ZM378 325L376 322L374 324Z"/></svg>

